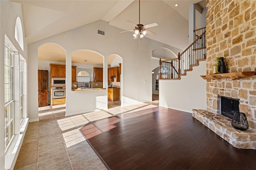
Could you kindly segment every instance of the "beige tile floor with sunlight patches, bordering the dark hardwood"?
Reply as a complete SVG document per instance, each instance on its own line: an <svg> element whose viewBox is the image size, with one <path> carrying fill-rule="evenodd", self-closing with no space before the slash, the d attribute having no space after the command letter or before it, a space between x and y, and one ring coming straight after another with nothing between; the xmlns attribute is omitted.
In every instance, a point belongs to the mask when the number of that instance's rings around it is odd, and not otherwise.
<svg viewBox="0 0 256 170"><path fill-rule="evenodd" d="M158 101L150 104L158 105ZM106 170L80 129L91 121L140 112L141 107L150 105L109 107L68 117L65 105L39 107L40 121L29 123L14 169Z"/></svg>

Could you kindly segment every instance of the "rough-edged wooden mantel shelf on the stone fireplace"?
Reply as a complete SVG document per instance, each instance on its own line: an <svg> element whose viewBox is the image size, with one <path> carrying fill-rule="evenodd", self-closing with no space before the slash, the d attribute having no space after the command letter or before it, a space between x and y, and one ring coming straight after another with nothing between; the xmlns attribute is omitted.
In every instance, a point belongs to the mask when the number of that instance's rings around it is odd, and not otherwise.
<svg viewBox="0 0 256 170"><path fill-rule="evenodd" d="M206 80L216 80L221 78L231 78L232 80L240 79L241 77L251 77L256 73L256 71L244 71L244 72L228 72L222 74L210 74L210 75L201 75L203 79Z"/></svg>

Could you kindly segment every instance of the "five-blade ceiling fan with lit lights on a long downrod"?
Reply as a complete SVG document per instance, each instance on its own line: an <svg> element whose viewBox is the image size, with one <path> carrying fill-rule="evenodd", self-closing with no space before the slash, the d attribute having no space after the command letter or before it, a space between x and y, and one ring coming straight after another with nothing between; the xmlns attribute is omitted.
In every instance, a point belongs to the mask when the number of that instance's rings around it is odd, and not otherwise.
<svg viewBox="0 0 256 170"><path fill-rule="evenodd" d="M146 35L146 33L150 34L150 35L156 35L156 33L146 30L146 28L150 28L150 27L155 27L158 24L156 22L154 23L150 23L148 25L142 25L140 24L140 0L139 0L139 24L135 24L132 21L129 21L130 23L132 23L132 25L135 26L135 29L128 29L128 30L124 30L124 31L120 31L120 33L124 33L126 31L134 31L134 39L138 38L138 35L140 35L140 38L144 37L144 35Z"/></svg>

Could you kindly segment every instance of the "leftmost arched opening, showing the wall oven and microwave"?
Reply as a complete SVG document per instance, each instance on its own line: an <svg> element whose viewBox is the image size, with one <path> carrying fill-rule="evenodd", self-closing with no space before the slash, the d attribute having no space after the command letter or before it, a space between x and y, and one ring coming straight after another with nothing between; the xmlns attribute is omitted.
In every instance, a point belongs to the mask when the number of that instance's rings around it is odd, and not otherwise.
<svg viewBox="0 0 256 170"><path fill-rule="evenodd" d="M55 79L62 89L55 92ZM64 80L64 82L63 82ZM56 43L38 47L38 107L66 103L66 51ZM60 101L61 100L61 101Z"/></svg>

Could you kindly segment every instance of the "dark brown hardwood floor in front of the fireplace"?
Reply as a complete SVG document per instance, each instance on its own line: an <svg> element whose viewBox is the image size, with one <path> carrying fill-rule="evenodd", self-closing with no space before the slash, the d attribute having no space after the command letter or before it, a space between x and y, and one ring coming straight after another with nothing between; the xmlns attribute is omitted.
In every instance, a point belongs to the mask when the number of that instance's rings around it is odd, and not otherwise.
<svg viewBox="0 0 256 170"><path fill-rule="evenodd" d="M256 150L232 147L191 113L151 104L81 131L111 170L256 169Z"/></svg>

